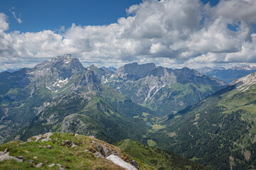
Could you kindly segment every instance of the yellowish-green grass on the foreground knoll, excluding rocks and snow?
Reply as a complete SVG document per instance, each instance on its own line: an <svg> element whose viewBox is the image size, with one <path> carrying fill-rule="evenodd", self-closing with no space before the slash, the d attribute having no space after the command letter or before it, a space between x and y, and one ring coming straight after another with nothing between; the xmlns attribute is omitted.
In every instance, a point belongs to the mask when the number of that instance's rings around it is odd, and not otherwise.
<svg viewBox="0 0 256 170"><path fill-rule="evenodd" d="M8 149L11 156L23 156L24 162L16 162L7 160L1 162L0 169L34 169L38 163L43 163L41 169L58 169L58 166L49 167L50 164L60 164L65 169L121 169L119 166L112 164L107 159L97 158L95 154L90 152L91 148L96 149L92 144L92 140L99 142L101 145L106 145L112 150L116 150L119 157L126 159L129 157L118 147L107 144L94 137L84 135L74 136L73 133L54 133L50 137L49 142L21 142L12 141L4 145L0 145L0 151ZM78 147L68 147L63 145L63 141L70 140L75 142ZM51 145L52 149L42 148L43 146ZM42 147L39 147L42 146ZM38 157L38 158L34 158ZM34 163L26 162L32 159ZM151 166L139 162L140 169L153 169Z"/></svg>

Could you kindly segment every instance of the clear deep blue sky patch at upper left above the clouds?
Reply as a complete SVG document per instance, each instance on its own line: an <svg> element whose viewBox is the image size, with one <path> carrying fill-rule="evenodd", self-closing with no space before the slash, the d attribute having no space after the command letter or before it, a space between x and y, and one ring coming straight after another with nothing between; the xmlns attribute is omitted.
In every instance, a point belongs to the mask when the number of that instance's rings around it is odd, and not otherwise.
<svg viewBox="0 0 256 170"><path fill-rule="evenodd" d="M102 26L116 23L127 16L126 8L141 0L1 0L0 12L6 13L10 22L8 32L38 32L68 28L75 23L81 26ZM21 18L18 23L16 17Z"/></svg>

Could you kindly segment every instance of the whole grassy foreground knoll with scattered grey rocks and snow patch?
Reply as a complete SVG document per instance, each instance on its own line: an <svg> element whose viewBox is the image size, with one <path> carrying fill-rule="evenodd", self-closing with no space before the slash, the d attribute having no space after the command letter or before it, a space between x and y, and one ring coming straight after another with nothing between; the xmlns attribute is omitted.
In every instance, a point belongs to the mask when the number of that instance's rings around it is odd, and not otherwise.
<svg viewBox="0 0 256 170"><path fill-rule="evenodd" d="M48 132L0 145L0 162L0 169L154 169L107 142L73 133Z"/></svg>

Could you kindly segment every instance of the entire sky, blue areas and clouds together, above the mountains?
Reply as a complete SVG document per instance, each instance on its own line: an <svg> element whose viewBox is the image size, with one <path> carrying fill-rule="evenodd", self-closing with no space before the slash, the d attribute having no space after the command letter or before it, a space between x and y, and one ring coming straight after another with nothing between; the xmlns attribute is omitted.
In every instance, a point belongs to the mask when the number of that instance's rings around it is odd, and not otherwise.
<svg viewBox="0 0 256 170"><path fill-rule="evenodd" d="M64 54L98 67L252 64L256 1L0 1L0 71Z"/></svg>

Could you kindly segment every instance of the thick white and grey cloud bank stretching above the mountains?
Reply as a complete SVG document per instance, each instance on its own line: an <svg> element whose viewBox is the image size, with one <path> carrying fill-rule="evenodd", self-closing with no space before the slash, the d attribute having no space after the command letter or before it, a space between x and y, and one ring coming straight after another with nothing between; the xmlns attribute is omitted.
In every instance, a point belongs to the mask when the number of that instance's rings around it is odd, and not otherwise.
<svg viewBox="0 0 256 170"><path fill-rule="evenodd" d="M81 16L82 17L82 16ZM64 33L6 33L0 13L0 67L29 67L71 53L83 63L118 67L154 62L166 67L256 62L256 1L145 0L107 26L77 26ZM228 28L233 27L233 29Z"/></svg>

